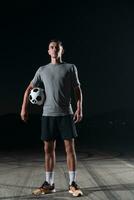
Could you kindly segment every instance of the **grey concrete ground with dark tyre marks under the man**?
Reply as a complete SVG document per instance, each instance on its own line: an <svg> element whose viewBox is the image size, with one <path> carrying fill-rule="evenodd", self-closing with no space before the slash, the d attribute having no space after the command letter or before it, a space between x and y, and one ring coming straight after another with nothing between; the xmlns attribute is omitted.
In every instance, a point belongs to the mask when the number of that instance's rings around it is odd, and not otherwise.
<svg viewBox="0 0 134 200"><path fill-rule="evenodd" d="M134 200L134 152L109 148L77 148L77 182L84 196L81 200ZM0 151L0 199L74 199L68 193L65 153L56 151L56 193L33 196L45 177L42 150Z"/></svg>

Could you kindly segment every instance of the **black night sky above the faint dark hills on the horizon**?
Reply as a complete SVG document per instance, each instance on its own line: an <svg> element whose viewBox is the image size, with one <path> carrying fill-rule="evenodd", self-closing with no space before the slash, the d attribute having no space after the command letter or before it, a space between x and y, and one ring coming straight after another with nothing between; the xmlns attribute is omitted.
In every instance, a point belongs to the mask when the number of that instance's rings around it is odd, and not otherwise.
<svg viewBox="0 0 134 200"><path fill-rule="evenodd" d="M16 1L0 12L0 114L19 113L24 90L59 38L76 64L85 115L134 109L134 4Z"/></svg>

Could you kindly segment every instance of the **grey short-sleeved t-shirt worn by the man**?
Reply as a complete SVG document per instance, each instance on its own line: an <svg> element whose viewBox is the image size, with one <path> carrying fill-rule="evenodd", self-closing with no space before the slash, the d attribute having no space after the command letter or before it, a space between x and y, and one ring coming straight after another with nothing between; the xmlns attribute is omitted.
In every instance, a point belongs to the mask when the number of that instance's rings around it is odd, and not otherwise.
<svg viewBox="0 0 134 200"><path fill-rule="evenodd" d="M80 85L77 68L74 64L49 63L39 67L33 80L33 87L43 84L45 102L43 116L63 116L73 114L71 90Z"/></svg>

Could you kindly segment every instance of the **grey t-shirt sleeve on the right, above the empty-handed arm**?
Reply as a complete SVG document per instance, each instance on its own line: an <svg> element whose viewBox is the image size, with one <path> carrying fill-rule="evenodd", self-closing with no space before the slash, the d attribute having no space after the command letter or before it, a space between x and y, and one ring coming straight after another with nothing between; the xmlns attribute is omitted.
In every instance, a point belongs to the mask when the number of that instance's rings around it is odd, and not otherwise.
<svg viewBox="0 0 134 200"><path fill-rule="evenodd" d="M72 86L75 88L75 87L78 87L80 85L80 81L79 81L79 77L78 77L78 70L76 68L75 65L72 66Z"/></svg>

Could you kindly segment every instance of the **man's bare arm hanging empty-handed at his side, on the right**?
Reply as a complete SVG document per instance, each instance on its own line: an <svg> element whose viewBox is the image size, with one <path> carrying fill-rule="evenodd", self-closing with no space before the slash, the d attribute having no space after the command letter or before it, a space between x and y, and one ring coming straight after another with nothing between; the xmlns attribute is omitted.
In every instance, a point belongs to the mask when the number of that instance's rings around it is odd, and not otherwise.
<svg viewBox="0 0 134 200"><path fill-rule="evenodd" d="M75 98L76 98L76 111L74 113L74 122L80 122L82 120L83 117L83 113L82 113L82 101L83 101L83 96L82 96L82 90L81 87L75 87L74 88L74 94L75 94Z"/></svg>

